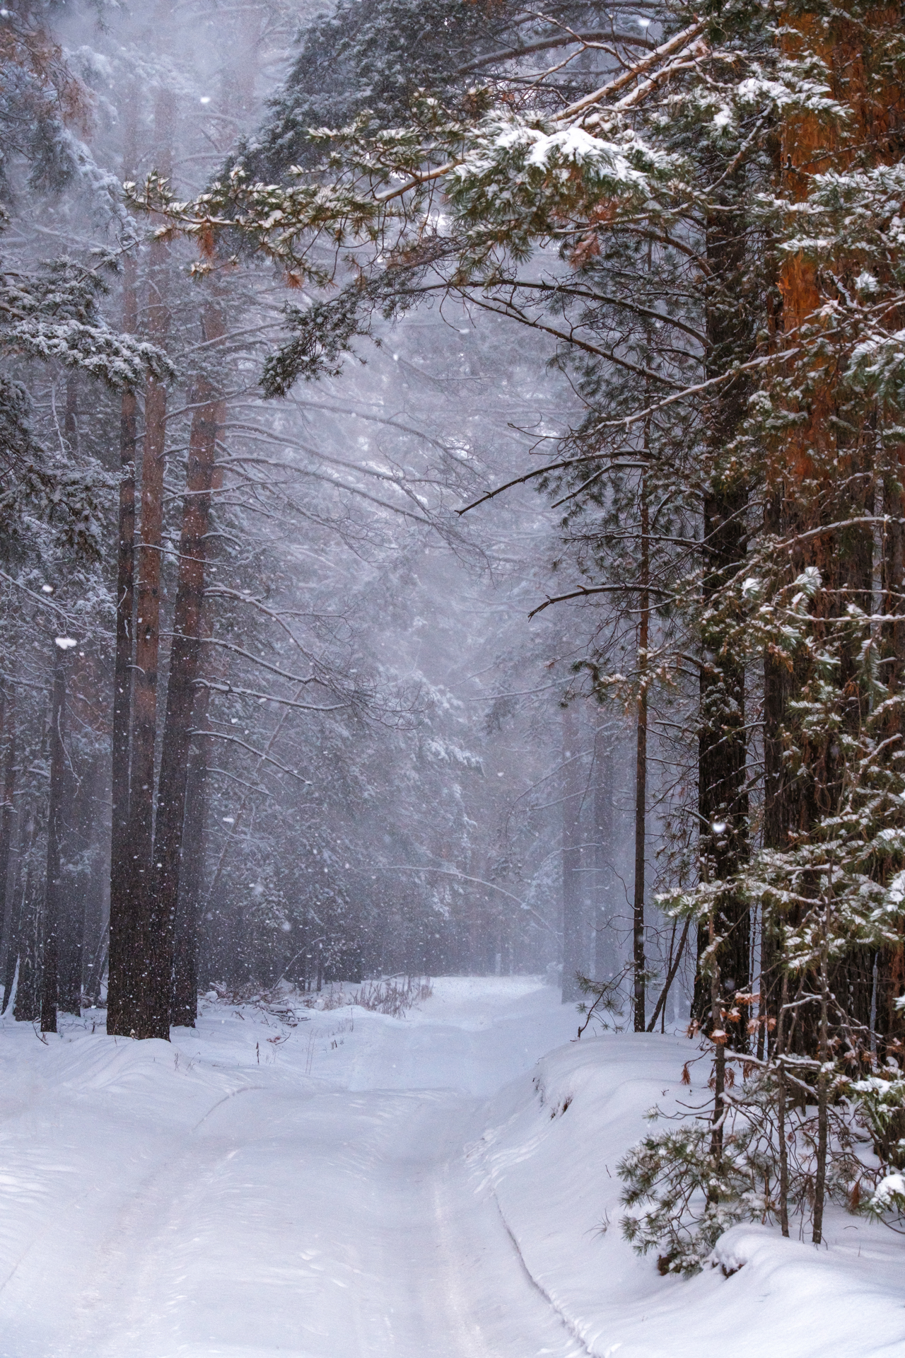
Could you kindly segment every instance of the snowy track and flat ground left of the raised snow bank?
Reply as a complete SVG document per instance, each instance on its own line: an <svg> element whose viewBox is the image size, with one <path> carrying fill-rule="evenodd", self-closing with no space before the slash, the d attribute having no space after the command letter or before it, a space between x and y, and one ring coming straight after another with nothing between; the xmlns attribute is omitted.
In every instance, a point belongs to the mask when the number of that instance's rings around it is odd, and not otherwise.
<svg viewBox="0 0 905 1358"><path fill-rule="evenodd" d="M33 1184L0 1234L3 1358L583 1351L465 1154L484 1097L571 1031L555 994L441 982L404 1023L316 1014L265 1065L273 1029L224 1013L171 1047L38 1051L1 1124ZM28 1167L16 1133L46 1149L47 1119L57 1162Z"/></svg>

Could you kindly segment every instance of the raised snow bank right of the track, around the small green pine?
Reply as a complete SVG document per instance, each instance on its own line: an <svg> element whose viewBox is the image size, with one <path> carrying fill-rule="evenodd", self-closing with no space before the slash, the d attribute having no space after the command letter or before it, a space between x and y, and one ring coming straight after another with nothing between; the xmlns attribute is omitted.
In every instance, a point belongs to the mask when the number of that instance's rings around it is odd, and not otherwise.
<svg viewBox="0 0 905 1358"><path fill-rule="evenodd" d="M600 1358L905 1353L905 1241L883 1226L830 1211L821 1249L737 1226L691 1281L661 1278L621 1238L616 1165L647 1108L704 1103L706 1062L681 1084L695 1055L682 1038L585 1036L487 1107L468 1148L476 1191L494 1196L536 1286Z"/></svg>

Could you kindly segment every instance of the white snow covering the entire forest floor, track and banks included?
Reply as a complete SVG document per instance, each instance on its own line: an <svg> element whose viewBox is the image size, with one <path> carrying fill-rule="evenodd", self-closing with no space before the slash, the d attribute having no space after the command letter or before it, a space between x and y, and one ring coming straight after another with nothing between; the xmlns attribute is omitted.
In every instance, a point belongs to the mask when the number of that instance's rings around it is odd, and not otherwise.
<svg viewBox="0 0 905 1358"><path fill-rule="evenodd" d="M905 1354L882 1226L737 1228L744 1267L691 1282L621 1240L615 1165L688 1097L682 1038L571 1043L531 978L437 980L402 1020L91 1027L0 1033L3 1358Z"/></svg>

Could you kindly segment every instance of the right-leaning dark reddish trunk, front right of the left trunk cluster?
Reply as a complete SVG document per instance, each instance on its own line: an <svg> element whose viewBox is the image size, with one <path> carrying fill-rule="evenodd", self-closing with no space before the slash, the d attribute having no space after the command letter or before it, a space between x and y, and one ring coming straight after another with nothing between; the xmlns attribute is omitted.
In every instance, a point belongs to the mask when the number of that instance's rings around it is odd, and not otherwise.
<svg viewBox="0 0 905 1358"><path fill-rule="evenodd" d="M214 306L205 307L202 330L208 342L225 333L223 316ZM156 1036L160 1038L168 1033L174 999L174 934L179 903L191 716L199 671L206 538L217 458L217 428L224 418L223 398L208 373L197 379L193 397L197 409L191 420L186 498L182 511L179 583L155 826L155 894L149 914L153 1012L149 1012L148 1021L156 1025Z"/></svg>

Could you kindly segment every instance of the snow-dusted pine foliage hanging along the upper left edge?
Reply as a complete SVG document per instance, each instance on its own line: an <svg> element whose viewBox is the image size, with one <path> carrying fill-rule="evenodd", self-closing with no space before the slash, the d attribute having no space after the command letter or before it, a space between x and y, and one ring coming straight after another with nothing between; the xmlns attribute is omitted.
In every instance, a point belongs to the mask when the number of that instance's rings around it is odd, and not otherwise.
<svg viewBox="0 0 905 1358"><path fill-rule="evenodd" d="M115 181L94 162L80 137L95 99L49 30L52 4L24 0L0 15L0 231L31 196L58 201L87 196L88 208L117 209ZM4 242L5 243L5 242ZM119 334L104 316L118 258L62 255L34 262L4 250L0 257L0 531L7 559L41 554L50 532L66 555L98 561L114 497L114 479L96 459L76 459L34 420L34 376L72 372L110 391L134 388L148 373L167 379L171 367L153 345Z"/></svg>

